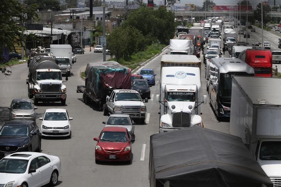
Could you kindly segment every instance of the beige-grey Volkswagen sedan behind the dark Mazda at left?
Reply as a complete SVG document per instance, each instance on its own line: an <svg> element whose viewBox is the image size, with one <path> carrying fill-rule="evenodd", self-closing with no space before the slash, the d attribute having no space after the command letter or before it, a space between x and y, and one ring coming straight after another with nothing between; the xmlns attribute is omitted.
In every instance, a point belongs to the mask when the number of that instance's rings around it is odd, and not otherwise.
<svg viewBox="0 0 281 187"><path fill-rule="evenodd" d="M34 107L30 99L13 99L9 109L10 120L36 121L37 107Z"/></svg>

